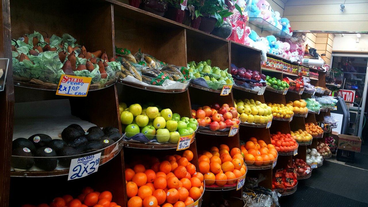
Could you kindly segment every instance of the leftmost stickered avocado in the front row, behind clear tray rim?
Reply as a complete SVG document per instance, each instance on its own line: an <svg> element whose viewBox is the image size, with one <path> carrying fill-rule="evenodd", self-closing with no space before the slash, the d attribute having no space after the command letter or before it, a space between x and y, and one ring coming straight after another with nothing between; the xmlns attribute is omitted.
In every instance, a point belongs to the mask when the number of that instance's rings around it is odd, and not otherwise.
<svg viewBox="0 0 368 207"><path fill-rule="evenodd" d="M17 147L11 152L11 155L14 155L11 157L11 166L15 169L28 170L29 168L32 168L33 164L35 164L32 151L27 147Z"/></svg>

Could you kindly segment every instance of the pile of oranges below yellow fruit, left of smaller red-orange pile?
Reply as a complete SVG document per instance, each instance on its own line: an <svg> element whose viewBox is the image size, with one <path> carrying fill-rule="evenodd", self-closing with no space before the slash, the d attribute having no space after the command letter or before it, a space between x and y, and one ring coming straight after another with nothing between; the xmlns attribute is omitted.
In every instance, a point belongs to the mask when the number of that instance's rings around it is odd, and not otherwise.
<svg viewBox="0 0 368 207"><path fill-rule="evenodd" d="M272 144L251 137L249 141L240 146L244 153L244 162L247 165L269 165L277 158L277 151Z"/></svg>

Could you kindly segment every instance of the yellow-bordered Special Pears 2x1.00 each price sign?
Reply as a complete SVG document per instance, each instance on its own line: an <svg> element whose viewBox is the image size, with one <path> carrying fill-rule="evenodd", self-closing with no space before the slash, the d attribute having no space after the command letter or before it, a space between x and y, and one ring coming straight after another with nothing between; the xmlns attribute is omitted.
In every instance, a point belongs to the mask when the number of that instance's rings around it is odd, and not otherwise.
<svg viewBox="0 0 368 207"><path fill-rule="evenodd" d="M56 95L85 97L92 78L61 75Z"/></svg>

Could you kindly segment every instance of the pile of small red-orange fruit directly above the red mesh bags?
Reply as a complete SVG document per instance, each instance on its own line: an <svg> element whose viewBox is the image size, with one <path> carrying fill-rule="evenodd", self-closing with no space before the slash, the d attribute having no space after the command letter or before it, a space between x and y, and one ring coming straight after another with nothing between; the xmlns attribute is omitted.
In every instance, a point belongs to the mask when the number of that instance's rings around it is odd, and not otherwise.
<svg viewBox="0 0 368 207"><path fill-rule="evenodd" d="M277 152L292 152L298 148L298 143L291 134L282 134L280 131L271 134L271 143Z"/></svg>

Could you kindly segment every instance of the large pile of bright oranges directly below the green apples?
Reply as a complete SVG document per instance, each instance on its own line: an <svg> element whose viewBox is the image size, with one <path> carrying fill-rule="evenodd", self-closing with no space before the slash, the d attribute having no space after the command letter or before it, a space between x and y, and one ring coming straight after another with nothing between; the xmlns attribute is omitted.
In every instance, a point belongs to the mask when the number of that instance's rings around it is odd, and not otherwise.
<svg viewBox="0 0 368 207"><path fill-rule="evenodd" d="M204 191L204 176L190 163L193 157L186 150L162 162L151 158L150 166L135 164L125 169L127 207L185 207L198 200Z"/></svg>

